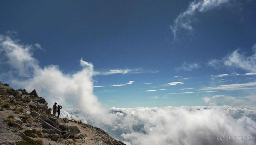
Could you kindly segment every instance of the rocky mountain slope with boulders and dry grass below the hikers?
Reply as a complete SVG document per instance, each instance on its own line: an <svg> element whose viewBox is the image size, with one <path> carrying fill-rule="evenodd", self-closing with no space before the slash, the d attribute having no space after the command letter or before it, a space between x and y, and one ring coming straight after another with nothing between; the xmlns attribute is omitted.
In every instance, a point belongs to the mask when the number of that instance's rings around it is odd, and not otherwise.
<svg viewBox="0 0 256 145"><path fill-rule="evenodd" d="M14 90L0 82L1 145L125 145L100 128L56 118L36 91Z"/></svg>

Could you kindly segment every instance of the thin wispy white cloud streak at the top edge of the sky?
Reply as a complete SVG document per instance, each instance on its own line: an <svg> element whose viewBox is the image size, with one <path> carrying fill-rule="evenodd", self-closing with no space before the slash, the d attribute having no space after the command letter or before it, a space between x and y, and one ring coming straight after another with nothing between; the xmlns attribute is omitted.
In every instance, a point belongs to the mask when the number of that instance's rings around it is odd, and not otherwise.
<svg viewBox="0 0 256 145"><path fill-rule="evenodd" d="M174 34L174 39L176 39L177 31L179 29L186 29L192 31L192 17L197 13L206 12L223 4L229 2L230 0L194 0L191 2L186 11L182 12L175 20L174 24L170 26L172 33Z"/></svg>

